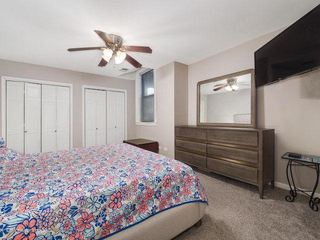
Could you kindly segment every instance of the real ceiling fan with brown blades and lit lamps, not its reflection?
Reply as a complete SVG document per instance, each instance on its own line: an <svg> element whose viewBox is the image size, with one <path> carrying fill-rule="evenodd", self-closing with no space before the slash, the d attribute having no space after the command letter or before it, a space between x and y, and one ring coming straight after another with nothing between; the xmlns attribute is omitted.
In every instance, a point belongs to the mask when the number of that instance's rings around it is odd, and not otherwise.
<svg viewBox="0 0 320 240"><path fill-rule="evenodd" d="M78 47L68 48L68 51L82 51L82 50L103 50L102 59L98 66L105 66L110 58L113 56L113 64L119 64L123 60L126 60L136 68L142 66L137 60L128 55L126 51L145 52L151 53L152 49L148 46L126 46L122 45L122 37L115 34L107 34L103 31L94 30L99 37L105 42L105 46L93 46L93 47ZM113 65L114 66L114 65Z"/></svg>

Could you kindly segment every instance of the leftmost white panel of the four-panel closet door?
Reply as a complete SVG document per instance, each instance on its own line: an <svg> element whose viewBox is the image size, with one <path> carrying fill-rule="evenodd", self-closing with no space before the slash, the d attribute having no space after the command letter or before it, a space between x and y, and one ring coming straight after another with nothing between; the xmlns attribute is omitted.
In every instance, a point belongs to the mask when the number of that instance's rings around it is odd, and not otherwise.
<svg viewBox="0 0 320 240"><path fill-rule="evenodd" d="M6 81L6 146L24 152L24 82Z"/></svg>

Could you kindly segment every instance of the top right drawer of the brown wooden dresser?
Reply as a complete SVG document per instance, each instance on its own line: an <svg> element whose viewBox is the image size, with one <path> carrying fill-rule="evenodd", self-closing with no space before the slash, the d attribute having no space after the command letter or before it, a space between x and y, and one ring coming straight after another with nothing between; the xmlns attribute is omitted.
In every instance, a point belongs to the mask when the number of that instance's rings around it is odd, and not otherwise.
<svg viewBox="0 0 320 240"><path fill-rule="evenodd" d="M207 141L257 146L258 133L255 131L207 130Z"/></svg>

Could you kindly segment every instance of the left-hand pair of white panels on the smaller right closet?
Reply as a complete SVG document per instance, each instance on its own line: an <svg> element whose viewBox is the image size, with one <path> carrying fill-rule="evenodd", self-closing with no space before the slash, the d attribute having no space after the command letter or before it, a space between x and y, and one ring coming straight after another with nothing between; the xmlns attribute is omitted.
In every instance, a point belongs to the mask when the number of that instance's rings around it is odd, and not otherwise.
<svg viewBox="0 0 320 240"><path fill-rule="evenodd" d="M85 146L106 143L105 90L84 89Z"/></svg>

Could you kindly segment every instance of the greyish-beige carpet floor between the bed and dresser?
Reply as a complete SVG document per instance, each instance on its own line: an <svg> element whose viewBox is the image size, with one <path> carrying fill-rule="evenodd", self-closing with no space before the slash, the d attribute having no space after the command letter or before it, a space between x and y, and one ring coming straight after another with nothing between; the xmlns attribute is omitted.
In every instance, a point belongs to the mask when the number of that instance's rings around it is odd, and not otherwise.
<svg viewBox="0 0 320 240"><path fill-rule="evenodd" d="M194 170L208 205L201 226L192 226L174 240L320 239L320 210L309 207L308 196L298 194L287 202L288 190L266 186L260 199L257 186Z"/></svg>

